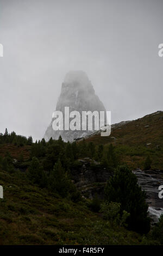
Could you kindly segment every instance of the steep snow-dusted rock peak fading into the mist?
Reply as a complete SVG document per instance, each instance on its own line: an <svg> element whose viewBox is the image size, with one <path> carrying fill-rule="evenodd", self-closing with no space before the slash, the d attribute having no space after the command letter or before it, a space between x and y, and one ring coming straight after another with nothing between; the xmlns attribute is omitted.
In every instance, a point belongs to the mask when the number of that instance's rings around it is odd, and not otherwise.
<svg viewBox="0 0 163 256"><path fill-rule="evenodd" d="M65 76L64 83L62 83L61 94L59 96L56 111L61 111L65 113L65 107L69 107L70 113L72 111L78 111L82 118L82 111L105 111L105 107L103 103L99 100L99 97L95 94L95 90L89 78L83 71L70 71ZM73 118L70 118L70 121ZM54 118L51 121L51 124L48 126L44 138L48 141L51 137L53 139L58 139L59 136L64 139L64 141L73 141L73 139L77 139L80 137L85 137L90 135L93 129L90 130L58 130L54 131L52 124ZM81 119L82 124L82 119ZM81 125L82 126L82 125Z"/></svg>

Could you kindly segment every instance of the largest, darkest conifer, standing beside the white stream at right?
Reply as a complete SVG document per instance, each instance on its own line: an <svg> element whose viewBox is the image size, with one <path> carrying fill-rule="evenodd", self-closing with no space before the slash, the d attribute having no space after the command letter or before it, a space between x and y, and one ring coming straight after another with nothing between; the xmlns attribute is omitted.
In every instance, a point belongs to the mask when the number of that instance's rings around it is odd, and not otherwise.
<svg viewBox="0 0 163 256"><path fill-rule="evenodd" d="M106 202L121 203L123 210L130 213L128 227L131 230L148 233L150 219L147 216L146 193L141 191L137 178L126 166L117 168L115 175L105 187Z"/></svg>

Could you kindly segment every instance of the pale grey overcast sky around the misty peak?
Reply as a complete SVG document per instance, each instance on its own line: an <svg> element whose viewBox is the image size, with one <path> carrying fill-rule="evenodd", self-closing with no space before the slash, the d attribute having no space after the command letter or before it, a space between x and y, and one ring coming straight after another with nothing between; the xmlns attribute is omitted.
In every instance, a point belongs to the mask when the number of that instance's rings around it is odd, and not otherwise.
<svg viewBox="0 0 163 256"><path fill-rule="evenodd" d="M0 132L43 137L69 70L112 123L162 110L162 0L0 0Z"/></svg>

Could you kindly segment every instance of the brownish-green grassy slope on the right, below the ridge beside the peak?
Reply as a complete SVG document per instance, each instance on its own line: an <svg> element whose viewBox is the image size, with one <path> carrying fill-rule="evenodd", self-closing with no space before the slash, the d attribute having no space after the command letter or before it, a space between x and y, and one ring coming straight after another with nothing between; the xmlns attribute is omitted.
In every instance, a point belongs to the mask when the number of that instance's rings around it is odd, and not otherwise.
<svg viewBox="0 0 163 256"><path fill-rule="evenodd" d="M111 138L111 137L115 137ZM131 168L143 168L147 155L151 156L152 169L163 169L163 112L146 115L123 126L116 126L111 135L95 135L86 139L107 147L112 143L117 154ZM148 143L151 143L147 145Z"/></svg>

